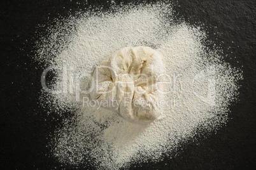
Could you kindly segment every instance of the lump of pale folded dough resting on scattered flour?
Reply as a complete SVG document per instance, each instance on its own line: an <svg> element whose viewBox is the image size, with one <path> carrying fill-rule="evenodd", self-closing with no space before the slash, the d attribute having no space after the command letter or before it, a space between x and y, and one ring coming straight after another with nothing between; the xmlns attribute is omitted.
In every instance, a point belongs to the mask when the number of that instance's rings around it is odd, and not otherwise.
<svg viewBox="0 0 256 170"><path fill-rule="evenodd" d="M163 66L162 56L152 48L122 48L94 70L90 98L127 121L148 124L160 115L162 85L157 82Z"/></svg>

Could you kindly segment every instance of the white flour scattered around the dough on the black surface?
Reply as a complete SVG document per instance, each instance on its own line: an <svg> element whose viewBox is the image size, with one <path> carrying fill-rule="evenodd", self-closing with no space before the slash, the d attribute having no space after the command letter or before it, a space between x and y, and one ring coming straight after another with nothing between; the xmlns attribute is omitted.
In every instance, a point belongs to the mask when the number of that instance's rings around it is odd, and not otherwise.
<svg viewBox="0 0 256 170"><path fill-rule="evenodd" d="M216 131L227 122L241 73L223 62L222 51L206 48L200 28L167 22L171 6L164 6L115 7L115 14L80 15L50 29L50 36L38 42L36 60L45 67L61 67L52 82L61 93L43 92L41 103L68 117L49 144L62 164L118 169L163 155L173 157L197 132ZM162 117L151 124L133 124L97 105L91 107L94 103L83 102L89 95L78 93L90 81L77 83L79 75L90 74L106 56L126 46L149 46L162 54L166 65L170 93L165 95ZM68 112L75 115L67 116Z"/></svg>

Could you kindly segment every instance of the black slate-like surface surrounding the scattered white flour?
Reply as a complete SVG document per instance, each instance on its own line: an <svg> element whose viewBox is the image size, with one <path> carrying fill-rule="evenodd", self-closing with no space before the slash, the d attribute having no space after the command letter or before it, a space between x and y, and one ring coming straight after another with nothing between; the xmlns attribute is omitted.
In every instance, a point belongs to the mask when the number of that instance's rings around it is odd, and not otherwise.
<svg viewBox="0 0 256 170"><path fill-rule="evenodd" d="M54 131L58 122L50 120L47 110L39 107L40 76L44 68L31 56L34 55L34 42L38 39L36 30L46 34L45 28L54 24L54 18L74 15L75 11L85 11L90 5L103 6L104 10L111 5L111 1L77 2L1 1L1 169L66 167L46 155L49 152L46 136ZM127 4L128 1L123 2ZM217 134L199 140L199 145L190 143L174 159L166 158L158 163L136 167L255 169L255 2L180 0L173 4L174 15L178 18L193 25L204 23L209 39L218 39L217 46L222 46L224 54L227 54L225 61L241 68L244 79L240 82L239 101L231 106L227 126ZM38 24L45 24L46 27L37 28ZM135 169L134 165L131 169Z"/></svg>

